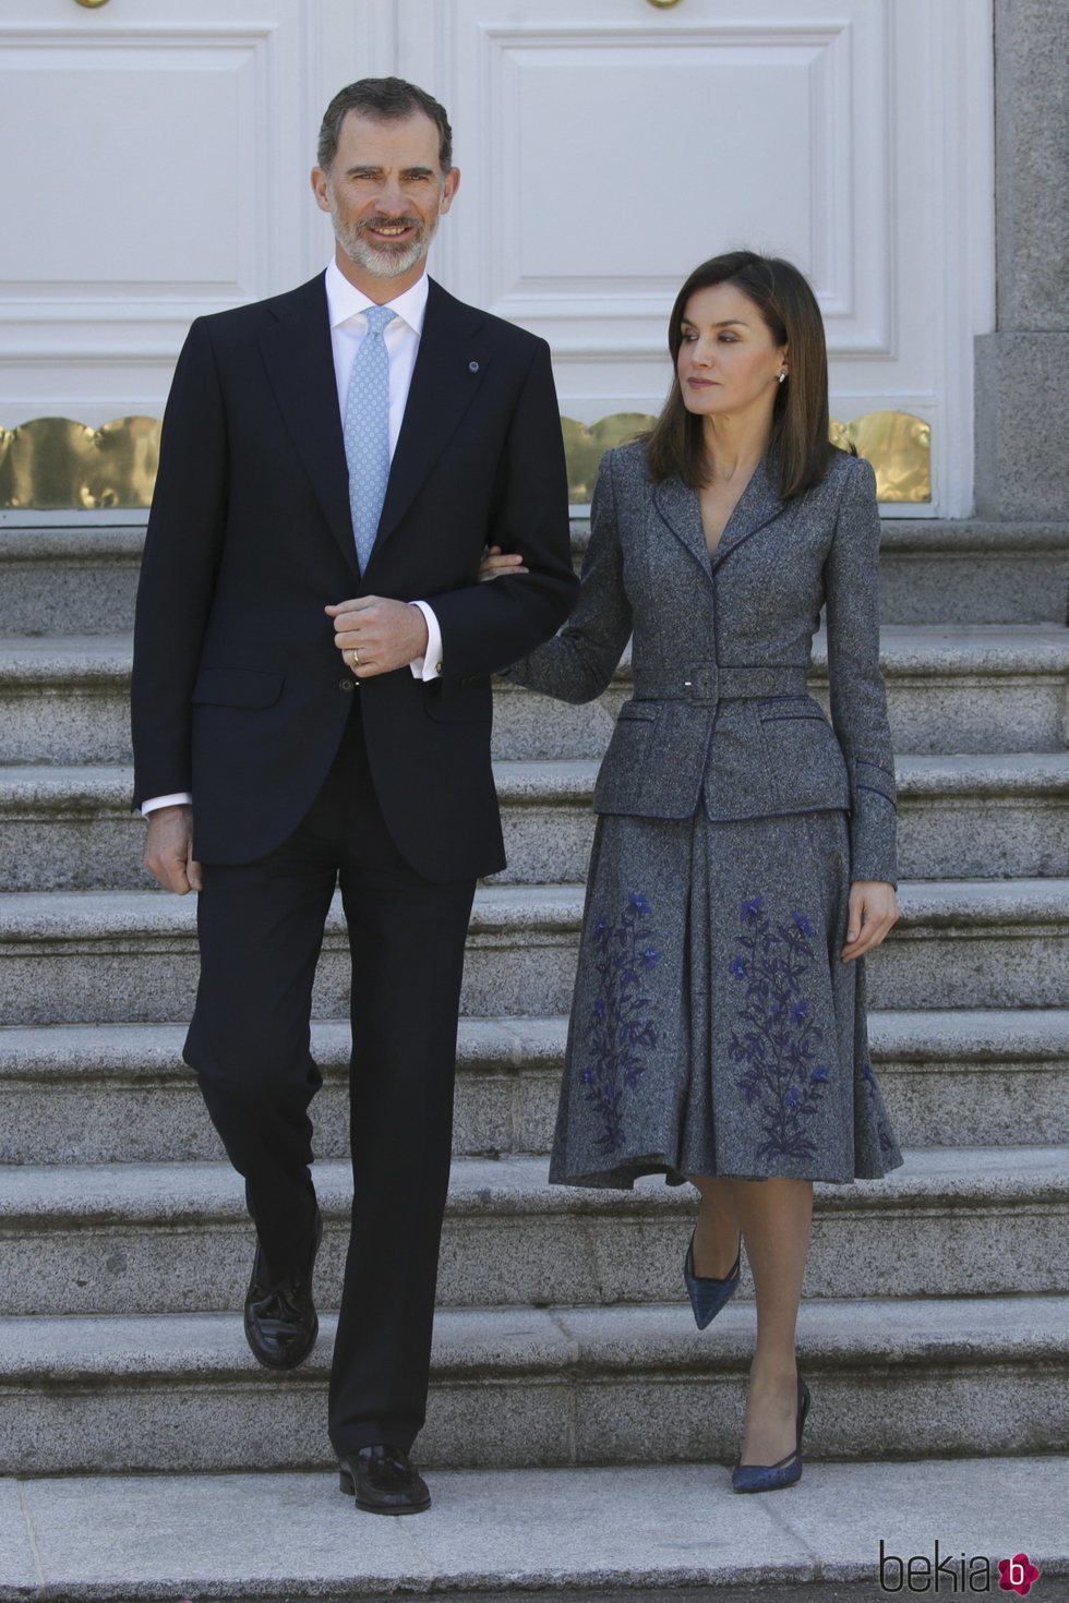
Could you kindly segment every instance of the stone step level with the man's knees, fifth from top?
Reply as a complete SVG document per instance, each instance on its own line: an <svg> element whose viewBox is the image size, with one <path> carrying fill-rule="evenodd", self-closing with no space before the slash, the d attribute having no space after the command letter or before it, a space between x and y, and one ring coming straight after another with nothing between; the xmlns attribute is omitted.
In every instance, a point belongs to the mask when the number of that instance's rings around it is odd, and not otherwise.
<svg viewBox="0 0 1069 1603"><path fill-rule="evenodd" d="M548 1153L566 1018L463 1018L454 1153ZM189 1162L221 1145L181 1061L184 1024L0 1029L0 1164ZM869 1016L907 1146L1069 1143L1069 1010ZM348 1154L349 1028L313 1024L316 1151Z"/></svg>

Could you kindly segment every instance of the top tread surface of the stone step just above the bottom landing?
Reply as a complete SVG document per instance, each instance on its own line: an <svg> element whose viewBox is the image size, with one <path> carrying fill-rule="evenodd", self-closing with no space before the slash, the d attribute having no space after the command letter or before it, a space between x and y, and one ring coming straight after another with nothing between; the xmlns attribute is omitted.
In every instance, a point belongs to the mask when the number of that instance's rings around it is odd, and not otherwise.
<svg viewBox="0 0 1069 1603"><path fill-rule="evenodd" d="M930 1369L998 1364L1056 1366L1069 1374L1069 1297L938 1297L809 1300L798 1350L806 1374L843 1367ZM319 1383L329 1372L335 1316L321 1316L308 1364L264 1377L240 1318L200 1314L82 1314L0 1319L5 1388L155 1382L255 1387ZM729 1303L715 1334L696 1337L676 1303L614 1308L444 1308L434 1321L433 1379L566 1372L700 1372L748 1367L753 1310Z"/></svg>

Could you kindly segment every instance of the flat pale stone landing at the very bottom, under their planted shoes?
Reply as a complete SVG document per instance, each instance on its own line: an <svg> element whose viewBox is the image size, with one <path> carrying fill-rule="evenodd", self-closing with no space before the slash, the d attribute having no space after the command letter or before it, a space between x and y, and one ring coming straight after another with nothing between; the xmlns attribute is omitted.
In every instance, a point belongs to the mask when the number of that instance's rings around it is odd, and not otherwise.
<svg viewBox="0 0 1069 1603"><path fill-rule="evenodd" d="M1037 1597L1069 1598L1069 1457L835 1464L809 1457L806 1431L785 1508L732 1496L710 1462L436 1470L431 1496L418 1521L354 1531L332 1470L8 1480L0 1598L872 1603L910 1557L915 1585L942 1563L944 1597L966 1579L997 1595L1023 1532Z"/></svg>

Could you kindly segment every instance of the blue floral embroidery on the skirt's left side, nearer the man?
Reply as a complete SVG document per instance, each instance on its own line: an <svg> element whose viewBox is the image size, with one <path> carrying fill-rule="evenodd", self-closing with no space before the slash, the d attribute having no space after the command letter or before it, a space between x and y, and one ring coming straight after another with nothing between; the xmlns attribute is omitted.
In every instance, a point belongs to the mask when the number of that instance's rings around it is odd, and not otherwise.
<svg viewBox="0 0 1069 1603"><path fill-rule="evenodd" d="M587 1031L588 1060L582 1079L587 1103L604 1125L598 1141L601 1153L615 1153L623 1145L623 1090L638 1084L646 1072L643 1053L657 1045L652 999L643 989L644 976L660 962L649 914L647 899L628 891L617 922L598 919L593 931L599 987Z"/></svg>

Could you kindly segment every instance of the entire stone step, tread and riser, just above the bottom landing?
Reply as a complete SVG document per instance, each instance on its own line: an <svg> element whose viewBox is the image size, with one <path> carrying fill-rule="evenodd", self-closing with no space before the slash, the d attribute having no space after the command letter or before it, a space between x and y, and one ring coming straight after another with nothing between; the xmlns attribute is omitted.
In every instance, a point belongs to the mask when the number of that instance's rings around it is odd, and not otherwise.
<svg viewBox="0 0 1069 1603"><path fill-rule="evenodd" d="M1063 1452L1067 1322L1066 1297L805 1302L806 1460ZM324 1318L308 1364L269 1374L232 1313L5 1319L0 1472L329 1468L332 1339ZM420 1462L729 1464L752 1351L745 1303L700 1334L678 1303L447 1310Z"/></svg>

